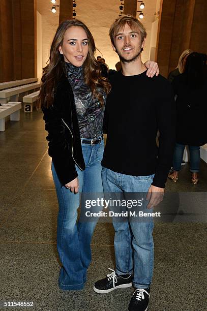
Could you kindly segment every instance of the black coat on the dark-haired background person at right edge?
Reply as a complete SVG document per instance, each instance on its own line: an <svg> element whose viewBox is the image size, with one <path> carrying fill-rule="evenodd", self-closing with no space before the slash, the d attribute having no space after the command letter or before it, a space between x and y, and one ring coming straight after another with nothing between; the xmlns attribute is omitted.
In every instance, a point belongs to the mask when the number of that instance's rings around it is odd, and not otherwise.
<svg viewBox="0 0 207 311"><path fill-rule="evenodd" d="M207 143L206 116L207 83L192 88L181 74L172 82L176 98L176 142L183 145L202 146Z"/></svg>

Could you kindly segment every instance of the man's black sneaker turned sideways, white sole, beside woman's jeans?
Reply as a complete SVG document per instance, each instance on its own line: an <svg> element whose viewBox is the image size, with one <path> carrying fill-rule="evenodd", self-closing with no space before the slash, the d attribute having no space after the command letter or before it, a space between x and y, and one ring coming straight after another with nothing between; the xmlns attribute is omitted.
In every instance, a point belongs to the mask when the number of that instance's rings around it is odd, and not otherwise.
<svg viewBox="0 0 207 311"><path fill-rule="evenodd" d="M132 275L127 274L124 276L116 275L115 271L111 270L111 274L107 277L100 279L94 284L94 291L99 294L106 294L112 292L116 288L126 288L132 286Z"/></svg>

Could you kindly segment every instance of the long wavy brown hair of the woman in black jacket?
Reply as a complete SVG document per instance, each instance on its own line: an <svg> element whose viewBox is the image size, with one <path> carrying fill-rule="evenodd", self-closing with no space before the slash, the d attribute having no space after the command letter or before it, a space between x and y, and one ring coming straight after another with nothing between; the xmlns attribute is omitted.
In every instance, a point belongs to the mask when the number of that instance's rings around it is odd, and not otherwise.
<svg viewBox="0 0 207 311"><path fill-rule="evenodd" d="M77 19L65 20L57 28L50 48L49 63L43 68L38 108L49 108L52 105L55 87L62 75L66 74L64 58L58 48L63 45L66 30L72 26L82 27L88 38L88 54L83 63L84 82L91 88L93 96L98 99L102 106L104 103L103 95L98 91L97 87L103 88L106 94L110 91L110 84L106 78L101 76L100 65L94 56L96 46L90 30L84 23Z"/></svg>

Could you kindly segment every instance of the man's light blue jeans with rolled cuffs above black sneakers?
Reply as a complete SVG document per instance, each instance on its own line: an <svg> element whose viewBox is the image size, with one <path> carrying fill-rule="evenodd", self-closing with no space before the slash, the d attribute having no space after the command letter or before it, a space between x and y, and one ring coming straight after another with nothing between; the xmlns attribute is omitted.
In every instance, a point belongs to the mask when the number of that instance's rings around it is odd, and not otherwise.
<svg viewBox="0 0 207 311"><path fill-rule="evenodd" d="M153 177L125 175L102 167L104 193L147 193ZM135 288L149 287L154 267L153 221L121 223L113 220L113 227L116 274L133 273Z"/></svg>

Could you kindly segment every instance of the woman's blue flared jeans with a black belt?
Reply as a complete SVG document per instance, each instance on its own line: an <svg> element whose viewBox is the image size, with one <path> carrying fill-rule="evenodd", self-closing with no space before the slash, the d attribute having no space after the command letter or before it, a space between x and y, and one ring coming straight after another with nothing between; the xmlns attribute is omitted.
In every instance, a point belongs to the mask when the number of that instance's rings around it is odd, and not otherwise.
<svg viewBox="0 0 207 311"><path fill-rule="evenodd" d="M57 251L62 262L58 283L64 290L80 290L86 282L86 271L91 262L91 239L96 222L77 221L80 192L102 193L101 160L104 141L91 146L82 144L85 170L78 167L79 193L62 186L52 164L52 175L58 199Z"/></svg>

